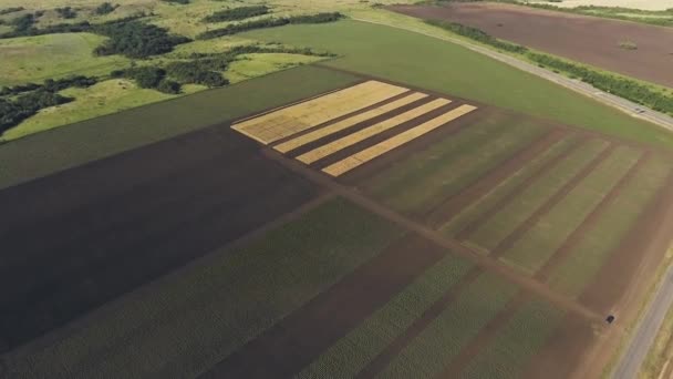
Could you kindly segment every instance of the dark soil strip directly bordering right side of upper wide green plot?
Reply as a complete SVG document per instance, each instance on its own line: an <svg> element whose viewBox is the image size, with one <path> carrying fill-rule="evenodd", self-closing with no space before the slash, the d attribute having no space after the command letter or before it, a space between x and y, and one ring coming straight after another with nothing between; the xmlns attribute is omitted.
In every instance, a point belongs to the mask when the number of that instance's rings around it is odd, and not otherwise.
<svg viewBox="0 0 673 379"><path fill-rule="evenodd" d="M480 199L484 195L498 186L500 182L511 176L536 156L561 141L567 134L567 131L560 129L552 130L524 150L517 152L504 164L496 166L490 172L486 173L476 183L464 188L455 196L449 197L443 204L434 207L426 218L428 225L431 227L438 227L444 223L448 223L460 212L460 209Z"/></svg>

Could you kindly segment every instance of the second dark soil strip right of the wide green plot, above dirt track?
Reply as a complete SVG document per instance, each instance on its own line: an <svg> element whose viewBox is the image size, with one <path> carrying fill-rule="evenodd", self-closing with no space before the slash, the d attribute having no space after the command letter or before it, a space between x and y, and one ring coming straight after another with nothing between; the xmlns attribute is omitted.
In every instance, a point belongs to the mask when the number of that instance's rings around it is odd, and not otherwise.
<svg viewBox="0 0 673 379"><path fill-rule="evenodd" d="M540 176L547 174L550 170L552 170L555 166L557 166L559 163L570 156L573 151L581 146L581 142L584 140L586 139L578 141L578 143L576 144L569 145L568 148L566 148L566 151L563 151L561 154L545 163L541 167L538 168L538 171L536 171L532 175L530 175L524 182L512 188L509 194L504 196L493 207L490 207L488 211L477 217L474 222L469 223L460 232L458 232L456 234L456 239L465 240L469 238L469 236L475 233L482 226L482 224L486 223L490 217L495 216L498 212L506 207L507 204L511 203L517 196L528 190L528 187L531 186L535 182L537 182Z"/></svg>

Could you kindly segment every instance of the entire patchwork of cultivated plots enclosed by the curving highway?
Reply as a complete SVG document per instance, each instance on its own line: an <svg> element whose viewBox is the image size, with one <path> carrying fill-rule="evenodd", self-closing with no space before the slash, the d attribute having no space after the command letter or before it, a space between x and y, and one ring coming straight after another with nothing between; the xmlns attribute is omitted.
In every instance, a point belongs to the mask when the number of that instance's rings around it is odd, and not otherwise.
<svg viewBox="0 0 673 379"><path fill-rule="evenodd" d="M615 348L673 136L406 31L240 38L339 58L0 145L0 377L570 378Z"/></svg>

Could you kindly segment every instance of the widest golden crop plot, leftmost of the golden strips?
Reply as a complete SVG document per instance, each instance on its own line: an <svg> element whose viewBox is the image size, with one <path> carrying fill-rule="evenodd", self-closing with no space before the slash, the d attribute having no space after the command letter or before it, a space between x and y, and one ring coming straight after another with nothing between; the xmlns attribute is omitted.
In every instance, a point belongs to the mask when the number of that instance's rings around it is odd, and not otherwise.
<svg viewBox="0 0 673 379"><path fill-rule="evenodd" d="M402 86L370 80L259 117L245 120L231 127L263 144L269 144L407 91L408 89Z"/></svg>

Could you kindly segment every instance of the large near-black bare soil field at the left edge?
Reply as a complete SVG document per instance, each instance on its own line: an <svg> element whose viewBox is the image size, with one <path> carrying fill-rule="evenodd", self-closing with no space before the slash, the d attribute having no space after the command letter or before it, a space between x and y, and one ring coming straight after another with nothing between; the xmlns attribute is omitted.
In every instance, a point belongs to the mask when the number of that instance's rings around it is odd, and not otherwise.
<svg viewBox="0 0 673 379"><path fill-rule="evenodd" d="M1 339L27 342L314 193L227 126L4 190Z"/></svg>

